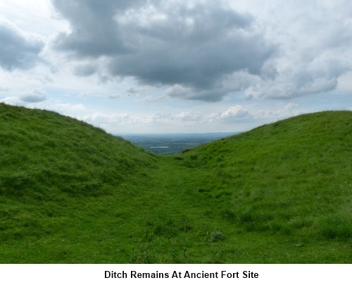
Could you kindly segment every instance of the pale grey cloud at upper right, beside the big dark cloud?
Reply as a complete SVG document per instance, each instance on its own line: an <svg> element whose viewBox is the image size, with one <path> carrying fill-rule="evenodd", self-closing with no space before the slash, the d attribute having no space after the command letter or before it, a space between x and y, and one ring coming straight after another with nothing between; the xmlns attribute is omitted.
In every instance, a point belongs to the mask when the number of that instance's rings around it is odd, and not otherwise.
<svg viewBox="0 0 352 285"><path fill-rule="evenodd" d="M339 77L352 69L351 1L293 3L280 4L265 18L267 27L275 25L270 40L279 46L279 56L266 64L277 73L257 77L246 90L251 97L282 99L332 91Z"/></svg>

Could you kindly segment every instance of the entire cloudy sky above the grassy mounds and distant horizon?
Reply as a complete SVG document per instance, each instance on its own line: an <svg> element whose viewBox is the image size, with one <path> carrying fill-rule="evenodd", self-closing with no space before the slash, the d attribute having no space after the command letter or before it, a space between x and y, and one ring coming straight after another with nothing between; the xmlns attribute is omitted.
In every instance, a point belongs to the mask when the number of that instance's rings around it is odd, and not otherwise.
<svg viewBox="0 0 352 285"><path fill-rule="evenodd" d="M0 102L112 134L352 110L350 0L1 0Z"/></svg>

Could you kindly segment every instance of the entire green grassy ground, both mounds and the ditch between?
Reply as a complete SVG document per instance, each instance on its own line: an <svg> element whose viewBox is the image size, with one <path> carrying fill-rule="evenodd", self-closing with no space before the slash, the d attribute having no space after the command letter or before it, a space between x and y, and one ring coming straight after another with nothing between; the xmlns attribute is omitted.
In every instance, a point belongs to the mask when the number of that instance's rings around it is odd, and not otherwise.
<svg viewBox="0 0 352 285"><path fill-rule="evenodd" d="M1 263L351 263L352 112L175 156L0 104Z"/></svg>

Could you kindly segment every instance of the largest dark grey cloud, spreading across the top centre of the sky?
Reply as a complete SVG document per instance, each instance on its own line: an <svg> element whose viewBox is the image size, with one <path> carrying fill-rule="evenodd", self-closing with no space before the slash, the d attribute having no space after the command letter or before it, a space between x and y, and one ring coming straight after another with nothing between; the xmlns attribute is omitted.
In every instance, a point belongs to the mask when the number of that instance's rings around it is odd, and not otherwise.
<svg viewBox="0 0 352 285"><path fill-rule="evenodd" d="M108 58L99 68L112 77L179 84L191 90L184 99L221 100L226 75L241 70L260 75L276 49L251 15L216 1L191 7L181 1L52 1L72 28L58 34L55 49L77 60ZM75 70L79 76L93 72L92 66Z"/></svg>

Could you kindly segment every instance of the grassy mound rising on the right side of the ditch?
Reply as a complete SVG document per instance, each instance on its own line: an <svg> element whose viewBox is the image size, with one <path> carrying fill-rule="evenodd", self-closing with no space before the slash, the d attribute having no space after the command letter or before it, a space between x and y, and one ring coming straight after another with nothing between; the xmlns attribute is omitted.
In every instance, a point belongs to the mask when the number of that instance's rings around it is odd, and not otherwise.
<svg viewBox="0 0 352 285"><path fill-rule="evenodd" d="M256 232L352 238L352 113L264 125L187 153L222 214ZM203 190L204 191L204 190Z"/></svg>

